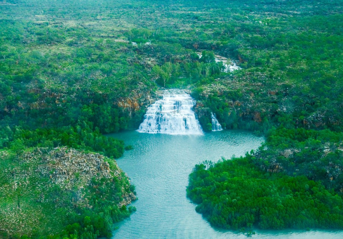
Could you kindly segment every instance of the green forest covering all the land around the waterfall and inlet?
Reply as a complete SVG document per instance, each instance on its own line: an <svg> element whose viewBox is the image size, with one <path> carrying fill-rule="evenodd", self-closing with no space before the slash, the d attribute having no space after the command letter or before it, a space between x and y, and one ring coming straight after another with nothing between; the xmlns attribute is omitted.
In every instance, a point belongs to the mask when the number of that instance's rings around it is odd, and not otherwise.
<svg viewBox="0 0 343 239"><path fill-rule="evenodd" d="M211 225L342 229L342 6L0 0L0 237L111 237L135 189L115 162L132 146L106 134L137 129L164 88L190 92L204 131L213 112L223 128L265 136L245 157L190 172L187 197ZM67 177L58 150L102 171ZM9 228L10 209L42 219ZM68 220L51 231L54 217Z"/></svg>

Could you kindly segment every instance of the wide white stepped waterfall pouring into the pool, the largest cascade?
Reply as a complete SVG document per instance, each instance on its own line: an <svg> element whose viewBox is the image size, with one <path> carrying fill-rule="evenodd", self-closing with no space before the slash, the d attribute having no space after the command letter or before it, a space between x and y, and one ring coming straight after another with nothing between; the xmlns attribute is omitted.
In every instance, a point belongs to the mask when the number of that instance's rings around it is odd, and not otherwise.
<svg viewBox="0 0 343 239"><path fill-rule="evenodd" d="M199 121L192 110L195 104L195 99L184 91L166 90L162 99L147 108L138 132L203 134Z"/></svg>

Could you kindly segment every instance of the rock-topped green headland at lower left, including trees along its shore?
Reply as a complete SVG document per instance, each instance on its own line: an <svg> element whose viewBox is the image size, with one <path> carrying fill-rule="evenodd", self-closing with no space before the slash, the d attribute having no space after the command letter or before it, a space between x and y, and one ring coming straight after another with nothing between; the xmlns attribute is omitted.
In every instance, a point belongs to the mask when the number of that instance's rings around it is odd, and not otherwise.
<svg viewBox="0 0 343 239"><path fill-rule="evenodd" d="M1 238L110 237L135 211L126 207L134 186L113 159L67 147L0 154Z"/></svg>

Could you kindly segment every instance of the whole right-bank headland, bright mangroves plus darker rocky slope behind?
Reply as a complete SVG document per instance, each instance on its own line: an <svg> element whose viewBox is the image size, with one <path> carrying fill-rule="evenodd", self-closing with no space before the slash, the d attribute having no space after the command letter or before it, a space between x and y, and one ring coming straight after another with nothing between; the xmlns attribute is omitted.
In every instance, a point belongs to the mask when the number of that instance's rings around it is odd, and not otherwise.
<svg viewBox="0 0 343 239"><path fill-rule="evenodd" d="M224 228L342 228L343 133L273 128L244 158L196 165L187 195Z"/></svg>

